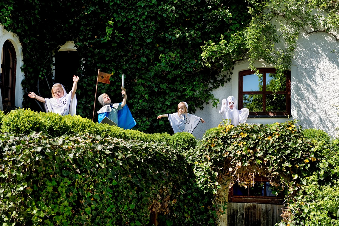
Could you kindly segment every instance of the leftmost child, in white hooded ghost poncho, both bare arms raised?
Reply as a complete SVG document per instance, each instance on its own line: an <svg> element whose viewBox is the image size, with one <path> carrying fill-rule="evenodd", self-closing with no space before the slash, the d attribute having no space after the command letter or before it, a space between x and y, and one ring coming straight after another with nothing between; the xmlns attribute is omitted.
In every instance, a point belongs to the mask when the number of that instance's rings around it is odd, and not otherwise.
<svg viewBox="0 0 339 226"><path fill-rule="evenodd" d="M37 99L45 103L46 112L54 112L59 115L75 115L77 108L77 97L75 91L77 90L79 77L73 75L73 87L69 93L66 93L65 88L60 83L55 83L52 87L51 99L39 97L33 92L29 92L28 97Z"/></svg>

